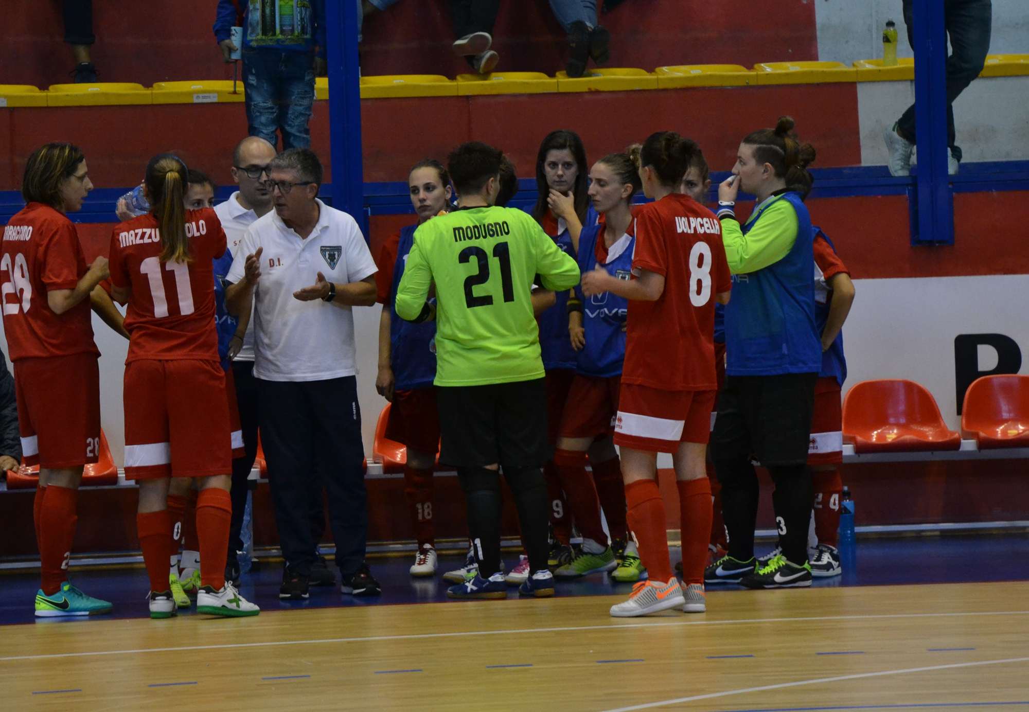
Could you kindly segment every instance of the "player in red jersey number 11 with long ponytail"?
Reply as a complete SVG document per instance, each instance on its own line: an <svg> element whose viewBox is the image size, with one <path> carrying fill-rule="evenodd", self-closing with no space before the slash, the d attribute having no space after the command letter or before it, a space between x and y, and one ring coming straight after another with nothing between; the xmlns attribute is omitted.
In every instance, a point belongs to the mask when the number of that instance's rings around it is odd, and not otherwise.
<svg viewBox="0 0 1029 712"><path fill-rule="evenodd" d="M213 210L185 210L187 169L158 154L146 167L146 215L111 235L112 294L129 309L125 372L126 476L139 482L139 529L150 617L175 614L169 589L171 477L202 477L197 498L201 589L197 610L256 615L224 579L232 501L225 375L218 362L212 260L225 252Z"/></svg>

